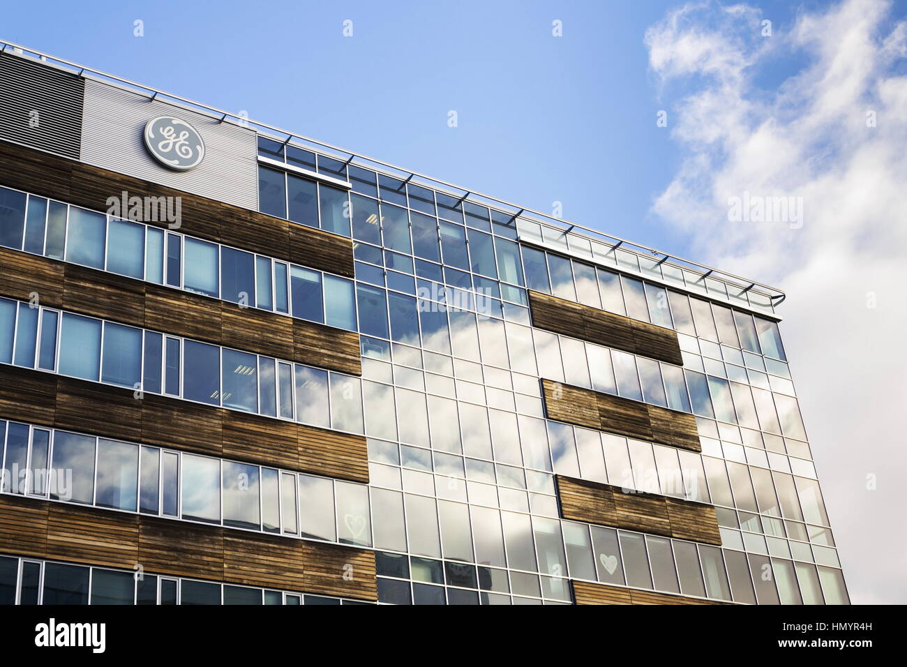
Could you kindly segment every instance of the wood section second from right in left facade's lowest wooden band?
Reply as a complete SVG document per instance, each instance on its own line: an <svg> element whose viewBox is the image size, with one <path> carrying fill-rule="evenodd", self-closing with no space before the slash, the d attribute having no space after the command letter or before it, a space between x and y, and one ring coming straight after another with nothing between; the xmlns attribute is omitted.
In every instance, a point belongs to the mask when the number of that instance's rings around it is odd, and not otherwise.
<svg viewBox="0 0 907 667"><path fill-rule="evenodd" d="M224 580L235 584L305 589L306 548L301 540L226 531Z"/></svg>

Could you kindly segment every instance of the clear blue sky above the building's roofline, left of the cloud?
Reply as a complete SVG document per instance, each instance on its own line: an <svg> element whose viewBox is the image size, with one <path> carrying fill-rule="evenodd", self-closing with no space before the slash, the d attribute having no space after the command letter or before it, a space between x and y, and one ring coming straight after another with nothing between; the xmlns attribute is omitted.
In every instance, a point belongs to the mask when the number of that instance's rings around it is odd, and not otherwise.
<svg viewBox="0 0 907 667"><path fill-rule="evenodd" d="M528 208L561 201L571 221L690 251L649 215L677 166L656 113L667 110L670 127L682 90L658 99L643 35L678 3L327 5L51 1L36 20L33 6L10 3L0 35ZM791 20L786 3L765 8Z"/></svg>

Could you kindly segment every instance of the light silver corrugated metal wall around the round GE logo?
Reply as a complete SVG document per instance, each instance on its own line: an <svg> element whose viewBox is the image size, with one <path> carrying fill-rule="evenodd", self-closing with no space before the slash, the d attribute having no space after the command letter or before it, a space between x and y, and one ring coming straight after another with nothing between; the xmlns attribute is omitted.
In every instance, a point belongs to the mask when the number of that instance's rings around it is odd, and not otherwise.
<svg viewBox="0 0 907 667"><path fill-rule="evenodd" d="M160 100L87 79L82 162L258 211L256 133ZM189 172L162 167L145 149L142 132L155 116L191 123L205 142L205 159Z"/></svg>

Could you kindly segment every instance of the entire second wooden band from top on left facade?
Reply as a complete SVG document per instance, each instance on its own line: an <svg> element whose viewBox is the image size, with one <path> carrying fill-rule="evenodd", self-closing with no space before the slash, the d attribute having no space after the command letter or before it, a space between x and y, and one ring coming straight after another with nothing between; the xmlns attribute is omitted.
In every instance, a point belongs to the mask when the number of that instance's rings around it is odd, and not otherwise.
<svg viewBox="0 0 907 667"><path fill-rule="evenodd" d="M0 296L174 336L362 374L359 335L286 315L0 249Z"/></svg>

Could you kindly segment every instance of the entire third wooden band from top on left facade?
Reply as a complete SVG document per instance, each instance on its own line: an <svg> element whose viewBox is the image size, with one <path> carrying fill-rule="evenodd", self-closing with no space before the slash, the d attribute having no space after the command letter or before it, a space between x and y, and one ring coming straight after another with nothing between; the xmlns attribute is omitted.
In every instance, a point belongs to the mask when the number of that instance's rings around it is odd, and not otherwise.
<svg viewBox="0 0 907 667"><path fill-rule="evenodd" d="M368 483L366 438L0 365L0 417Z"/></svg>

